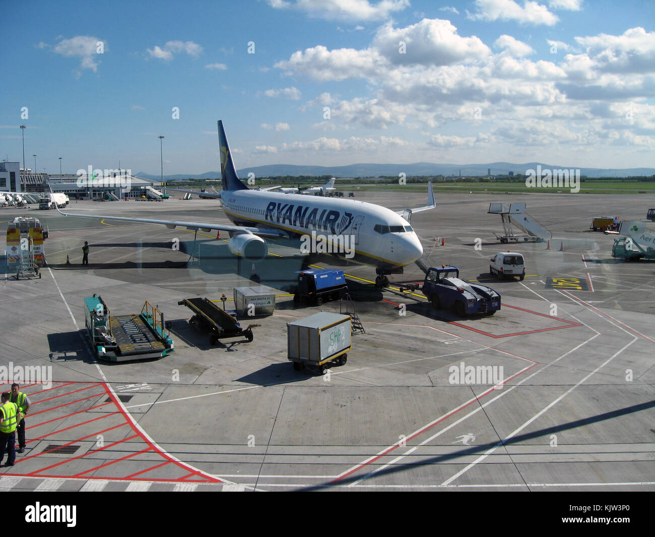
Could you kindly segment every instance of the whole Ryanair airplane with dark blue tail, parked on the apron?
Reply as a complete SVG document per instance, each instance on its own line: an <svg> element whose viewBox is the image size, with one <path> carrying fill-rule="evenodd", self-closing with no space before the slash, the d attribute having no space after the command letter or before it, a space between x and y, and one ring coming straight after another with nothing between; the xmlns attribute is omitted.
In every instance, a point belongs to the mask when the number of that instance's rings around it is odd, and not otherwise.
<svg viewBox="0 0 655 537"><path fill-rule="evenodd" d="M347 257L374 266L378 275L376 280L378 285L387 285L386 275L402 273L403 266L421 257L423 253L421 241L409 221L414 212L434 209L432 183L428 183L428 205L400 212L351 199L301 194L280 196L279 193L271 191L251 190L236 176L223 122L220 120L218 137L221 148L223 189L220 193L204 192L203 195L221 199L223 211L233 222L233 226L104 214L73 214L61 210L59 212L64 216L163 224L170 229L180 226L195 231L228 231L231 237L228 247L231 252L252 262L267 256L266 238L302 239L309 235L312 239L324 237L327 243L336 246L336 243L339 241L343 243L343 238L348 237L352 245L349 249L350 255ZM345 257L344 252L339 250L343 249L335 247L324 251Z"/></svg>

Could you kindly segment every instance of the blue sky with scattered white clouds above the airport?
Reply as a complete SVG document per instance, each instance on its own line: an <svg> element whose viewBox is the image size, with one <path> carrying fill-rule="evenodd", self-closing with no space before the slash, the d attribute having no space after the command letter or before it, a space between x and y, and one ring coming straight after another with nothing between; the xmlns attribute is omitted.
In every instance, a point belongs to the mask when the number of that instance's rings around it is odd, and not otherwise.
<svg viewBox="0 0 655 537"><path fill-rule="evenodd" d="M217 170L217 119L238 169L655 167L650 1L24 1L4 12L0 157L22 161L24 124L26 164L37 154L41 171L58 173L62 157L69 173L120 159L156 174L159 134L164 174Z"/></svg>

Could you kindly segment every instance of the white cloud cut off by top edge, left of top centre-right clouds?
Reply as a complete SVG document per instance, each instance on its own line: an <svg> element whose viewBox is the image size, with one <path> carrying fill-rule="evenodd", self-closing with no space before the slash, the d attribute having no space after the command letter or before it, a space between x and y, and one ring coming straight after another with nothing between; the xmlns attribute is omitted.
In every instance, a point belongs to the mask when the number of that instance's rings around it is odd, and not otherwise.
<svg viewBox="0 0 655 537"><path fill-rule="evenodd" d="M409 6L409 0L382 0L371 3L368 0L268 0L275 9L296 9L310 17L326 20L382 20L394 11Z"/></svg>

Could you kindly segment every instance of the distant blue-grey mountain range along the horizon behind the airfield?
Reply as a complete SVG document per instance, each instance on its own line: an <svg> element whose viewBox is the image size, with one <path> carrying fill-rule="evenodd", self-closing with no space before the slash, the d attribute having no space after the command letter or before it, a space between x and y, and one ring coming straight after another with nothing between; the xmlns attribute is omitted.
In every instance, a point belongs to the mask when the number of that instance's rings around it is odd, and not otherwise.
<svg viewBox="0 0 655 537"><path fill-rule="evenodd" d="M487 176L487 171L491 169L491 175L506 175L512 171L515 174L525 175L526 170L536 170L537 166L543 169L576 169L575 167L563 167L539 162L529 162L525 164L514 164L510 162L492 162L487 164L434 164L429 162L417 162L413 164L351 164L348 166L297 166L292 164L269 164L266 166L255 166L252 168L243 168L237 170L240 178L248 178L252 172L255 177L275 177L275 176L322 176L329 175L335 177L378 177L381 175L398 176L401 172L409 176L420 175L455 175L460 173L462 176ZM651 176L655 174L655 168L580 168L580 175L588 177L627 177L627 176ZM145 179L157 180L160 175L151 175L145 172L139 172L139 177ZM219 179L221 172L206 172L198 175L166 175L167 181L183 179Z"/></svg>

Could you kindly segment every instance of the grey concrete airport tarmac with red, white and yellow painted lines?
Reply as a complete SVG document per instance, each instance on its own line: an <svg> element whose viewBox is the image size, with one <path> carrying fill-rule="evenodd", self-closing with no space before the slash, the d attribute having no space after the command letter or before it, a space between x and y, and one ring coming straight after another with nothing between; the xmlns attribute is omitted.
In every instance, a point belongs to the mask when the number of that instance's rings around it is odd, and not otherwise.
<svg viewBox="0 0 655 537"><path fill-rule="evenodd" d="M356 196L394 210L426 199ZM33 403L28 445L0 469L0 489L655 490L655 262L614 260L614 237L588 229L604 214L643 220L655 199L436 197L437 208L411 222L424 262L495 288L496 315L460 319L400 292L398 283L422 281L417 266L379 290L373 268L308 260L276 241L256 266L278 295L274 315L257 319L253 342L213 346L178 301L232 298L252 285L252 265L229 253L223 234L0 209L0 222L30 214L50 229L41 279L16 281L0 267L0 388L16 374L43 377L22 388ZM501 245L491 201L525 201L552 231L550 249ZM215 200L72 201L68 210L228 222ZM524 281L489 274L489 258L508 249L525 257ZM324 376L293 370L286 354L286 323L339 312L339 302L293 303L289 286L309 262L344 269L365 328L347 363ZM159 306L174 353L96 361L83 309L94 293L113 315L140 313L145 300ZM459 375L470 367L496 376Z"/></svg>

